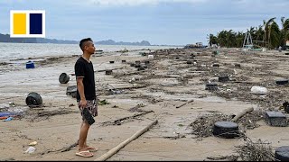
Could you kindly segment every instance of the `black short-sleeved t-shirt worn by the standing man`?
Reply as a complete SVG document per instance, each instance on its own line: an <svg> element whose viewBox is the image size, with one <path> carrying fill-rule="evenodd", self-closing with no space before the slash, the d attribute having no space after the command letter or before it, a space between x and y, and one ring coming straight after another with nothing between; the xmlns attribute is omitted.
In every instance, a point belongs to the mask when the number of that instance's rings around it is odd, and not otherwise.
<svg viewBox="0 0 289 162"><path fill-rule="evenodd" d="M96 84L94 79L94 68L92 62L80 57L74 66L75 76L83 77L84 94L86 100L96 99ZM79 90L77 91L77 100L80 101Z"/></svg>

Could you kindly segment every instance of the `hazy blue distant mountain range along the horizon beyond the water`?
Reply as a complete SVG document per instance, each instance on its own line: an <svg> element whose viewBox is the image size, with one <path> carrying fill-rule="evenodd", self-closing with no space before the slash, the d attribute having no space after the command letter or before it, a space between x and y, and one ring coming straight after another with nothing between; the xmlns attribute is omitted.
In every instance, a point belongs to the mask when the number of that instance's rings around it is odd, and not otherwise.
<svg viewBox="0 0 289 162"><path fill-rule="evenodd" d="M18 42L18 43L55 43L55 44L78 44L76 40L56 40L45 38L10 38L9 34L0 33L0 42ZM95 41L100 45L132 45L132 46L151 46L150 42L143 40L141 42L124 42L115 40L101 40Z"/></svg>

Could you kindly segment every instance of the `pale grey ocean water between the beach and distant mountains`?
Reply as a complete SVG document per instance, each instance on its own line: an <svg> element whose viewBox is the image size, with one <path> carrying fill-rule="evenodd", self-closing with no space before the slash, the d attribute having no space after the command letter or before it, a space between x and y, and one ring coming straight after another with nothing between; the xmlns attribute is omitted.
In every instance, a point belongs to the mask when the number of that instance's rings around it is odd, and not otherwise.
<svg viewBox="0 0 289 162"><path fill-rule="evenodd" d="M136 49L175 49L182 47L170 46L124 46L124 45L95 45L96 49L104 52ZM0 62L14 62L21 59L52 58L82 54L79 44L49 44L49 43L3 43L0 42Z"/></svg>

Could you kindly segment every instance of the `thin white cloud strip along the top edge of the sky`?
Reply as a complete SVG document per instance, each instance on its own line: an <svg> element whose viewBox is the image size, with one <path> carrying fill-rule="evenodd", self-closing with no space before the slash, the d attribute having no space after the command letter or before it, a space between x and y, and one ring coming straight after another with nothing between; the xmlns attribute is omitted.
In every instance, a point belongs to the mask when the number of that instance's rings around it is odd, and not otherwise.
<svg viewBox="0 0 289 162"><path fill-rule="evenodd" d="M160 4L160 3L201 3L208 0L89 0L92 4L97 5L142 5L142 4Z"/></svg>

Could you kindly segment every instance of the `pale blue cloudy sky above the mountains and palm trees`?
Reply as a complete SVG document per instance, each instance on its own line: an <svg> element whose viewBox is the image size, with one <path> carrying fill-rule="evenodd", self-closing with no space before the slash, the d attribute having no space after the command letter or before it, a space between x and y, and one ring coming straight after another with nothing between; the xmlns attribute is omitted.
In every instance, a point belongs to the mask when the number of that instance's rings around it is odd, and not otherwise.
<svg viewBox="0 0 289 162"><path fill-rule="evenodd" d="M208 44L222 30L247 31L263 20L289 18L289 0L0 0L0 33L10 10L44 10L46 37L58 40Z"/></svg>

